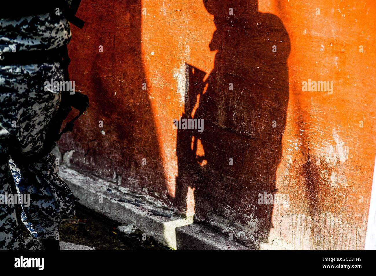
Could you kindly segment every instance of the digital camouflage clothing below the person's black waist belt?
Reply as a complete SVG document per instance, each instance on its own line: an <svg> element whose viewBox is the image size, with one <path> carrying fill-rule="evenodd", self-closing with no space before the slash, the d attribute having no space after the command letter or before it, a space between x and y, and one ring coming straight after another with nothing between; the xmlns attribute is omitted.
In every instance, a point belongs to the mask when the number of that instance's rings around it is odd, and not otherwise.
<svg viewBox="0 0 376 276"><path fill-rule="evenodd" d="M60 103L61 92L45 91L44 82L51 79L64 81L59 63L0 66L0 249L24 248L9 195L19 198L21 221L34 237L58 239L62 219L74 215L77 198L59 177L55 155L35 163L9 155L10 141L20 145L21 156L41 150Z"/></svg>

